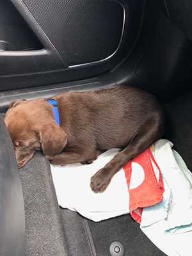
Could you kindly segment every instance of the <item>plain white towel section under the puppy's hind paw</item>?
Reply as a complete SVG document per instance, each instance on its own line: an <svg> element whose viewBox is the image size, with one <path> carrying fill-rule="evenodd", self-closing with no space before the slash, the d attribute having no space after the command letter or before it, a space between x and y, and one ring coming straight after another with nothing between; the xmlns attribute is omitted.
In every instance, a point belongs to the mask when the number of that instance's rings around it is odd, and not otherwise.
<svg viewBox="0 0 192 256"><path fill-rule="evenodd" d="M101 154L92 164L51 164L52 179L58 204L77 211L93 221L106 220L129 213L129 193L124 170L111 180L103 193L95 194L90 188L91 177L118 153L113 148Z"/></svg>

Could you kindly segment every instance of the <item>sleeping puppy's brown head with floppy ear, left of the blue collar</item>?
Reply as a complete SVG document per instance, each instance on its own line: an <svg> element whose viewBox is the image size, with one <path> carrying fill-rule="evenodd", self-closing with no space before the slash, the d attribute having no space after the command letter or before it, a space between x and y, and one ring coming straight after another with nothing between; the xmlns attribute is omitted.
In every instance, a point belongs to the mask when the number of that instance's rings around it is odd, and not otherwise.
<svg viewBox="0 0 192 256"><path fill-rule="evenodd" d="M45 99L15 100L4 116L12 138L19 168L24 166L37 150L51 160L67 144L67 135L56 124L52 109Z"/></svg>

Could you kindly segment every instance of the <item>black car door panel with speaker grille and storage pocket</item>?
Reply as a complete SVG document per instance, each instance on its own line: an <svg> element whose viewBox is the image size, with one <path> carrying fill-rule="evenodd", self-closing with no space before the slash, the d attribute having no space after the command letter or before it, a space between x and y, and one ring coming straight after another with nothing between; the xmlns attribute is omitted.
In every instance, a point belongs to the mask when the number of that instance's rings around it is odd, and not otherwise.
<svg viewBox="0 0 192 256"><path fill-rule="evenodd" d="M101 74L132 51L145 1L2 0L0 90L61 83ZM15 40L17 34L18 40ZM27 38L27 39L26 39ZM0 44L1 47L1 44ZM85 71L86 70L86 71ZM38 79L37 79L38 77Z"/></svg>

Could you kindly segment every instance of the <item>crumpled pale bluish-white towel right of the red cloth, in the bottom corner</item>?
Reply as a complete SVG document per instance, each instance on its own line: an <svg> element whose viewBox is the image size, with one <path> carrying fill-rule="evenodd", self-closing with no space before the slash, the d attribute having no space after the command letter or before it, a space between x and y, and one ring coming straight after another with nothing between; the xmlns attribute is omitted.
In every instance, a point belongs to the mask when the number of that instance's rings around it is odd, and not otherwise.
<svg viewBox="0 0 192 256"><path fill-rule="evenodd" d="M167 140L154 143L163 175L164 198L143 208L141 230L169 256L189 256L192 241L192 175Z"/></svg>

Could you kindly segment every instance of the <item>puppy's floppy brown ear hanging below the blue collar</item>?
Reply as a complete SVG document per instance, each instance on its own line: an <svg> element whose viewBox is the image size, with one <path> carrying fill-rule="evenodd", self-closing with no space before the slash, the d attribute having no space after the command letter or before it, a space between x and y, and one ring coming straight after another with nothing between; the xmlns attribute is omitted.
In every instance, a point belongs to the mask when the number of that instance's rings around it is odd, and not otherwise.
<svg viewBox="0 0 192 256"><path fill-rule="evenodd" d="M43 154L51 160L65 148L67 135L56 122L52 121L39 132L39 140Z"/></svg>

